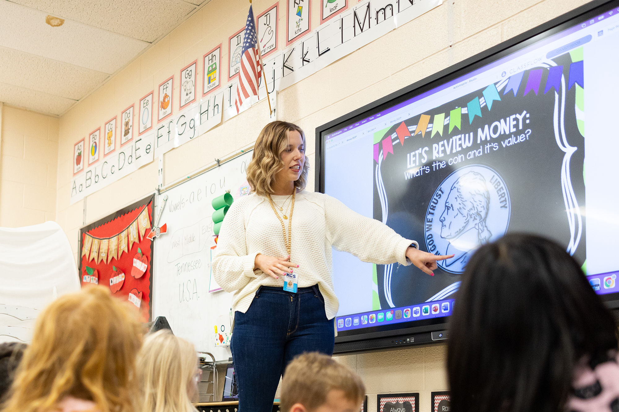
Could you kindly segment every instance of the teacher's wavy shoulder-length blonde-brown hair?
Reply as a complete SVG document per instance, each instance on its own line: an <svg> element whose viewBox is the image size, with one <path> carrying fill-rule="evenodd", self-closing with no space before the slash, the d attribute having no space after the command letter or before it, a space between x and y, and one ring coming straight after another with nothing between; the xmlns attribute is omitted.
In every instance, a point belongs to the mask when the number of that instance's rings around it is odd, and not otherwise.
<svg viewBox="0 0 619 412"><path fill-rule="evenodd" d="M275 174L284 168L282 152L288 147L288 133L297 131L303 139L305 147L305 133L296 124L282 121L274 121L262 129L254 145L254 154L251 162L247 166L247 181L251 186L251 191L258 195L266 196L273 192ZM309 162L305 151L303 170L301 176L295 181L295 187L301 191L305 189L309 172Z"/></svg>

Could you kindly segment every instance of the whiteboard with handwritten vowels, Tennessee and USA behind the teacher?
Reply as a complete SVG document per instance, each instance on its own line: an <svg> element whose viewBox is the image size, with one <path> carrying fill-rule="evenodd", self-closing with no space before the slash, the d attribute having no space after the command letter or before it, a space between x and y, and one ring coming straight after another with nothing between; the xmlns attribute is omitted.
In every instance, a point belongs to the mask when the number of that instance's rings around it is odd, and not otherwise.
<svg viewBox="0 0 619 412"><path fill-rule="evenodd" d="M212 200L230 191L233 199L249 194L245 168L252 152L246 152L158 196L168 200L159 226L167 233L155 239L153 319L165 316L172 332L191 341L197 351L215 359L232 356L227 346L215 345L215 324L223 317L232 323L232 295L217 289L211 279L210 262L215 256ZM158 212L158 210L157 210ZM224 322L225 323L225 322ZM227 331L226 331L227 332Z"/></svg>

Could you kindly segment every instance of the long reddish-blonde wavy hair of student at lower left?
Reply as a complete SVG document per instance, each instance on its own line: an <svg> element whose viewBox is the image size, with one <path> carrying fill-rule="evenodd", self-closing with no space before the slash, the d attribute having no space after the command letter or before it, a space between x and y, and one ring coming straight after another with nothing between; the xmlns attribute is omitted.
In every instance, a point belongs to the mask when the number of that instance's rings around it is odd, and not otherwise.
<svg viewBox="0 0 619 412"><path fill-rule="evenodd" d="M2 412L55 410L66 396L100 412L132 412L144 329L137 311L103 286L65 294L35 324Z"/></svg>

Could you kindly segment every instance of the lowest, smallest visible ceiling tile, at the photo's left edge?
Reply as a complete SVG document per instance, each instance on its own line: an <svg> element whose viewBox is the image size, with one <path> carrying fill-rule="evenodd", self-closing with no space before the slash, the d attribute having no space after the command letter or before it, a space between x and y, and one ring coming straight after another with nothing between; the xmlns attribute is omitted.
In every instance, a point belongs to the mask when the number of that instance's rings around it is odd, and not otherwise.
<svg viewBox="0 0 619 412"><path fill-rule="evenodd" d="M76 103L75 100L6 83L0 83L0 101L54 116L63 114Z"/></svg>

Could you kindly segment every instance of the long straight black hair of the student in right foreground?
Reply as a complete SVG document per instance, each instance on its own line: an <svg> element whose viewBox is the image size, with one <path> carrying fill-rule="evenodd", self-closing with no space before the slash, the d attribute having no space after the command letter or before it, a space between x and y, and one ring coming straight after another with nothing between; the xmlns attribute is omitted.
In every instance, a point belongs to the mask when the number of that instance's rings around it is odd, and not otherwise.
<svg viewBox="0 0 619 412"><path fill-rule="evenodd" d="M451 317L452 412L563 411L574 364L617 349L617 328L565 249L527 234L480 247Z"/></svg>

